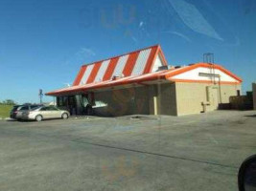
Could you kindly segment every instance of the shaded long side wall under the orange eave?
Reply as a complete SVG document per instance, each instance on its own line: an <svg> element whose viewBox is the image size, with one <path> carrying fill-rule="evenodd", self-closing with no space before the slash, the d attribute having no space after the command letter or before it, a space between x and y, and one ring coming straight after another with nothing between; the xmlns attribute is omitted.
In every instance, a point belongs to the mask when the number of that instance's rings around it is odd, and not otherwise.
<svg viewBox="0 0 256 191"><path fill-rule="evenodd" d="M107 104L106 107L94 109L99 116L117 117L136 114L176 116L174 83L99 92L95 93L95 100Z"/></svg>

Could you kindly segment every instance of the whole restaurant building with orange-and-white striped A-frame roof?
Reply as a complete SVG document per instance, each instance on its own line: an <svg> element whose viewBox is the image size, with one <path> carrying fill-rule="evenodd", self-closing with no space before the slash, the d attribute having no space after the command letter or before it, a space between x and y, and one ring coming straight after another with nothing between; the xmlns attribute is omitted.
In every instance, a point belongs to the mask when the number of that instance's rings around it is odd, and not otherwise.
<svg viewBox="0 0 256 191"><path fill-rule="evenodd" d="M156 45L85 64L71 87L46 95L72 115L182 116L219 109L241 84L219 64L170 66Z"/></svg>

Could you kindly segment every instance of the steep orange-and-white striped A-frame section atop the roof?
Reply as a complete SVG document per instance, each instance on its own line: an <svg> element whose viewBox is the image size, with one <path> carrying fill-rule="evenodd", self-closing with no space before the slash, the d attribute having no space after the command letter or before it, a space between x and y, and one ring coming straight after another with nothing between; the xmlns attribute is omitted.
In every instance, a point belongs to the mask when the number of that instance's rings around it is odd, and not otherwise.
<svg viewBox="0 0 256 191"><path fill-rule="evenodd" d="M160 46L152 46L143 50L111 57L102 61L81 66L73 86L97 83L112 79L113 76L137 76L155 72L154 61L159 57L162 65L167 65Z"/></svg>

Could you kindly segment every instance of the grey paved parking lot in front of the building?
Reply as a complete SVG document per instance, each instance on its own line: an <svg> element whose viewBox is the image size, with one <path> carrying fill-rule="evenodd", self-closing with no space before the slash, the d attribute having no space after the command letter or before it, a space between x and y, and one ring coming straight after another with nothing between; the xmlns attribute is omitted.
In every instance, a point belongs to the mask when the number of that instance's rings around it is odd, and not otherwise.
<svg viewBox="0 0 256 191"><path fill-rule="evenodd" d="M255 115L0 120L0 190L238 190Z"/></svg>

